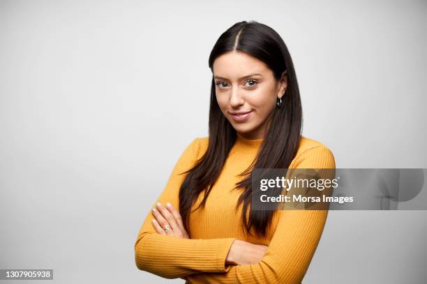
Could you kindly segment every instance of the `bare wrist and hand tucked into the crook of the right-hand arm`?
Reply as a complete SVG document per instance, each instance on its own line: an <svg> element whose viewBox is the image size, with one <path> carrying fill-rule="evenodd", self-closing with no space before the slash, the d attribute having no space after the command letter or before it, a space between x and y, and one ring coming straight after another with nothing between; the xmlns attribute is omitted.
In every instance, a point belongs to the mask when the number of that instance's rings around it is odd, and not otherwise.
<svg viewBox="0 0 427 284"><path fill-rule="evenodd" d="M232 265L256 264L264 258L268 246L252 244L250 242L234 240L225 262Z"/></svg>

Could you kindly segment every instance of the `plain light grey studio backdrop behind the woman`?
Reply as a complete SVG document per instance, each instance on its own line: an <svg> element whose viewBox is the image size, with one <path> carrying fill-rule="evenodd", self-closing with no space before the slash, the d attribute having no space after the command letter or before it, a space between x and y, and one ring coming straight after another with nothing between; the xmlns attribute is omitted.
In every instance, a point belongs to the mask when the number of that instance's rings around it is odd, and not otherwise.
<svg viewBox="0 0 427 284"><path fill-rule="evenodd" d="M133 246L208 134L209 52L242 20L285 40L304 136L337 168L427 168L426 15L403 0L0 1L0 269L183 283L138 270ZM426 224L331 211L304 283L424 283Z"/></svg>

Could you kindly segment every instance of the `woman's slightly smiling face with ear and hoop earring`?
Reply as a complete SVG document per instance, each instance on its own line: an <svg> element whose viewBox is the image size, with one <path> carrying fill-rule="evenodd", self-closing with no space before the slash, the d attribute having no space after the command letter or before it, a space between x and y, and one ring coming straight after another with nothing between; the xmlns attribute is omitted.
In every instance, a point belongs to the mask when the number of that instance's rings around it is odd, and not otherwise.
<svg viewBox="0 0 427 284"><path fill-rule="evenodd" d="M267 133L271 114L287 87L259 59L233 51L213 61L216 100L225 118L246 139L261 139Z"/></svg>

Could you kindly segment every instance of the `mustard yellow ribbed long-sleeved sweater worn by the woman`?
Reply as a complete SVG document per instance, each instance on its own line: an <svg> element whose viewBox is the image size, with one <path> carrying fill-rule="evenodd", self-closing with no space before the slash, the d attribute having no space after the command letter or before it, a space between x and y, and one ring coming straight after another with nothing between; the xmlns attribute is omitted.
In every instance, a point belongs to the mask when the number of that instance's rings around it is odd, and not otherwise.
<svg viewBox="0 0 427 284"><path fill-rule="evenodd" d="M251 164L263 139L248 140L237 135L223 171L211 189L206 206L190 214L191 239L158 234L151 208L135 242L138 269L164 278L183 278L186 283L301 283L322 235L327 210L278 210L267 237L242 233L240 191L232 188L237 175ZM184 175L207 150L208 137L196 138L183 151L166 187L156 202L179 208L179 187ZM290 168L335 168L332 152L322 143L304 136ZM202 200L200 195L196 204ZM234 239L268 246L261 262L226 265Z"/></svg>

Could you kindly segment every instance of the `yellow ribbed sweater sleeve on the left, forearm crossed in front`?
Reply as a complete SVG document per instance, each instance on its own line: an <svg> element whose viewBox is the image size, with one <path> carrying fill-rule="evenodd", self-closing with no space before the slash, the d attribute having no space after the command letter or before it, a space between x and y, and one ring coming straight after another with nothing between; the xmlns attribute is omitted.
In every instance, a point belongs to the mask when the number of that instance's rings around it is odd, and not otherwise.
<svg viewBox="0 0 427 284"><path fill-rule="evenodd" d="M157 202L167 202L179 207L179 187L184 175L195 164L199 139L194 139L183 151L174 166L165 189ZM223 239L182 239L160 235L151 225L151 207L135 241L135 263L138 269L163 278L182 278L200 272L224 272L225 258L234 238Z"/></svg>

